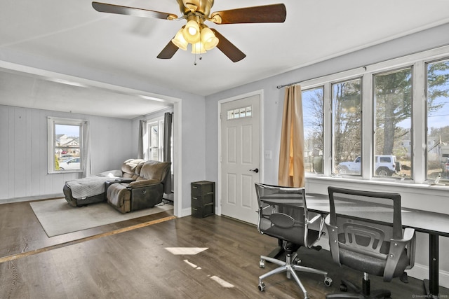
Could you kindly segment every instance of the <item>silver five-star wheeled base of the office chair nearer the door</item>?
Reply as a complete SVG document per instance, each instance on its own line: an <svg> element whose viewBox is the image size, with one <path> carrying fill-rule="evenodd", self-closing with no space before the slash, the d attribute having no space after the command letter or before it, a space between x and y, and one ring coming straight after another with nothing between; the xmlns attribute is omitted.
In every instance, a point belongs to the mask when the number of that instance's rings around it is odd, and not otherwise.
<svg viewBox="0 0 449 299"><path fill-rule="evenodd" d="M295 263L296 261L296 254L293 255L293 257L290 254L287 254L286 257L286 262L283 262L282 260L277 260L276 258L270 258L269 256L260 256L260 263L259 266L260 267L264 267L264 261L267 260L270 263L274 263L276 265L279 265L280 267L277 267L274 270L271 270L263 275L261 275L259 277L259 291L264 291L265 288L265 284L262 281L263 279L276 274L276 273L281 273L281 272L286 272L287 278L290 279L290 277L293 276L293 279L295 279L296 283L298 284L298 286L300 286L302 293L304 293L304 299L307 299L309 297L307 297L307 290L304 288L304 286L302 285L302 282L300 281L300 278L297 277L296 271L301 271L301 272L309 272L309 273L315 273L315 274L321 274L324 275L324 284L326 284L326 286L330 286L332 284L332 279L330 277L328 277L328 272L326 271L322 271L322 270L316 270L314 268L311 267L304 267L304 266L300 266L300 265L294 265L293 263ZM292 263L293 262L293 263Z"/></svg>

